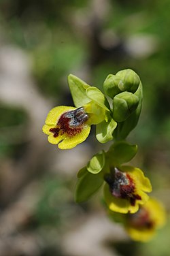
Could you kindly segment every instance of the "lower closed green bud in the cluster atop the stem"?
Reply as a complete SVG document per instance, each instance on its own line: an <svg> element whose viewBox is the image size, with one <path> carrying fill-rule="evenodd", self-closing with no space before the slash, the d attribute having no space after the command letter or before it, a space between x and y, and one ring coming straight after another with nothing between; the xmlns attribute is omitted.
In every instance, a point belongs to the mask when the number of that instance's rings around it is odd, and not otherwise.
<svg viewBox="0 0 170 256"><path fill-rule="evenodd" d="M127 91L119 93L113 99L113 117L117 122L122 122L128 118L139 104L138 97Z"/></svg>

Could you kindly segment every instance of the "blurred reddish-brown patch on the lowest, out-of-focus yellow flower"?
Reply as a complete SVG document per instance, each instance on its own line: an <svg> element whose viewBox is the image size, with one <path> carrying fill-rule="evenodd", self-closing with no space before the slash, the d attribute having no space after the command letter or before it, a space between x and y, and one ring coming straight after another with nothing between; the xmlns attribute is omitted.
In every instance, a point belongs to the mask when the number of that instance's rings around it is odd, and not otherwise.
<svg viewBox="0 0 170 256"><path fill-rule="evenodd" d="M128 214L129 225L137 229L152 229L154 221L150 219L150 214L146 208L140 208L135 214Z"/></svg>

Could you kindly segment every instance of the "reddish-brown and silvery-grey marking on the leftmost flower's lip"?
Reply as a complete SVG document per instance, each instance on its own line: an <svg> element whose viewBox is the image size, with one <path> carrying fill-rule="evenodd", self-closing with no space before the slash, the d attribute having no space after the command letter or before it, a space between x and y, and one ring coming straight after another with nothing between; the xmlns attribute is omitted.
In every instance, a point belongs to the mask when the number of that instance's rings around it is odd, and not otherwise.
<svg viewBox="0 0 170 256"><path fill-rule="evenodd" d="M73 137L81 133L84 123L88 120L88 115L84 112L84 108L77 108L65 112L59 118L56 127L51 128L49 131L54 133L54 138L58 135L67 133L69 137Z"/></svg>

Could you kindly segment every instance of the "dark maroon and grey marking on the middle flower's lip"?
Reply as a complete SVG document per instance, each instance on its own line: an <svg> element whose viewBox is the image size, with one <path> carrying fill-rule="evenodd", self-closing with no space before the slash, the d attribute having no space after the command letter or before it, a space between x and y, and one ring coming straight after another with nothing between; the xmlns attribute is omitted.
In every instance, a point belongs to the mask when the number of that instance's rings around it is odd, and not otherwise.
<svg viewBox="0 0 170 256"><path fill-rule="evenodd" d="M131 206L135 206L136 200L141 200L141 196L135 194L135 184L129 174L114 168L114 176L109 174L105 180L112 195L122 199L129 199Z"/></svg>

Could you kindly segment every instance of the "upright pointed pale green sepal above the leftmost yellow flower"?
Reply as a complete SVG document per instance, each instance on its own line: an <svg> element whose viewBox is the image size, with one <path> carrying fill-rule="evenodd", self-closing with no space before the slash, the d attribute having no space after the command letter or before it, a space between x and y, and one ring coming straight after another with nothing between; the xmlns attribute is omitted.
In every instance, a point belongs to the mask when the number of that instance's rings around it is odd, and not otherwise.
<svg viewBox="0 0 170 256"><path fill-rule="evenodd" d="M68 83L76 108L80 108L90 102L90 99L86 95L86 89L88 89L90 85L72 74L69 74L68 76Z"/></svg>

